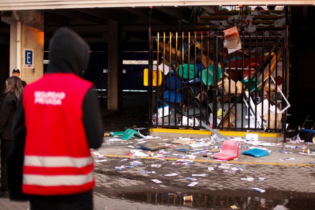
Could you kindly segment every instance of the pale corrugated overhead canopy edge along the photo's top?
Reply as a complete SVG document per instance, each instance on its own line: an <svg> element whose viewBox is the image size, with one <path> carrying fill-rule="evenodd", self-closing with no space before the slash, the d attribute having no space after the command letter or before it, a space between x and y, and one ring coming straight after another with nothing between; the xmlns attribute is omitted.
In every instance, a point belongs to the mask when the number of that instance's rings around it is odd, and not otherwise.
<svg viewBox="0 0 315 210"><path fill-rule="evenodd" d="M0 10L113 8L113 7L189 7L204 5L313 5L314 0L252 1L252 0L1 0Z"/></svg>

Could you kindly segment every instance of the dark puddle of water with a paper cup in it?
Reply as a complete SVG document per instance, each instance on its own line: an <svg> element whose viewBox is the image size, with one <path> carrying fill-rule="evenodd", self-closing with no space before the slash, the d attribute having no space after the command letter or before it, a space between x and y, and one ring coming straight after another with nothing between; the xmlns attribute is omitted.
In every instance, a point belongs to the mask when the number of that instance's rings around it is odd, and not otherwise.
<svg viewBox="0 0 315 210"><path fill-rule="evenodd" d="M192 201L184 201L183 196L192 195ZM175 204L189 207L232 209L235 205L240 209L314 209L313 199L289 198L284 200L265 199L259 197L232 197L216 196L207 194L185 194L177 193L127 193L119 195L134 201L156 203L156 204ZM275 208L277 207L277 208Z"/></svg>

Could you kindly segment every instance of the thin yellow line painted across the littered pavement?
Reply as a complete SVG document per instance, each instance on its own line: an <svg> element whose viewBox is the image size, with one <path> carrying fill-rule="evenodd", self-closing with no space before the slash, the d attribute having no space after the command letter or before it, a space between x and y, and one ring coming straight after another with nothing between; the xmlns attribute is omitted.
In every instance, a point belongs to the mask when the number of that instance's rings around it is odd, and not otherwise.
<svg viewBox="0 0 315 210"><path fill-rule="evenodd" d="M131 158L129 155L104 155L106 157L118 157L118 158ZM159 158L152 157L141 157L141 159L152 159L158 160ZM165 158L164 160L178 160L178 158ZM203 162L203 163L220 163L214 160L197 160L193 159L194 162ZM239 162L239 161L229 161L228 163L237 163L237 164L252 164L252 165L279 165L279 166L314 166L312 164L295 164L295 163L256 163L256 162Z"/></svg>

